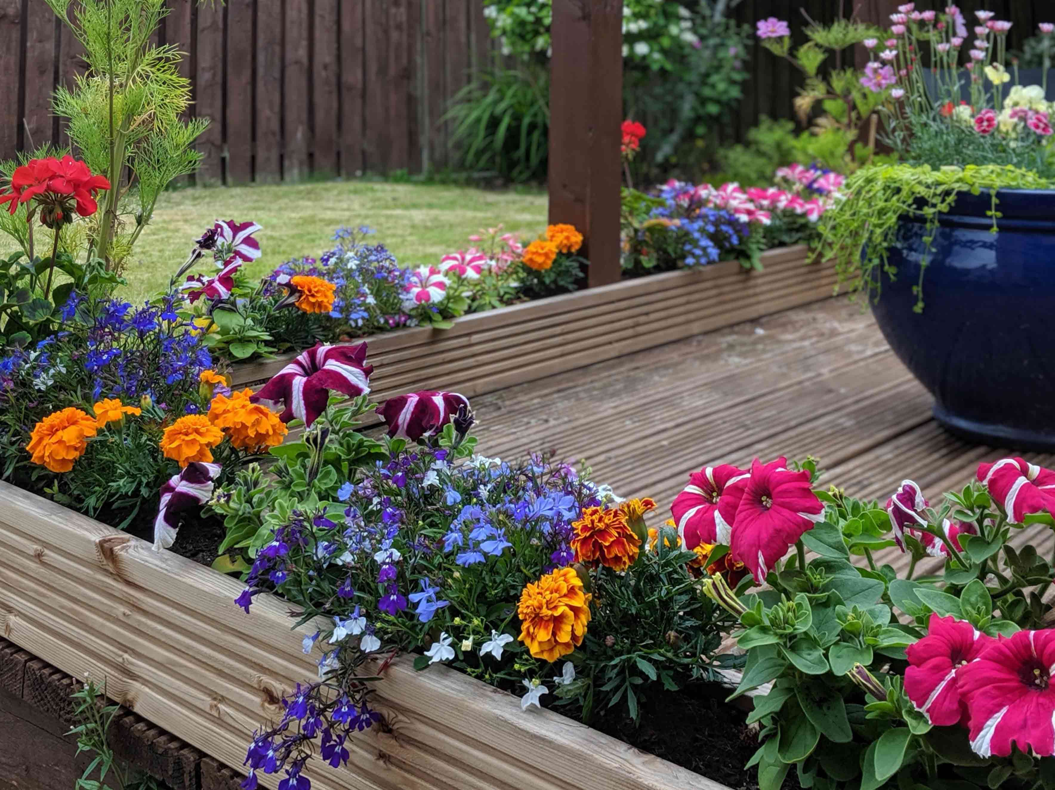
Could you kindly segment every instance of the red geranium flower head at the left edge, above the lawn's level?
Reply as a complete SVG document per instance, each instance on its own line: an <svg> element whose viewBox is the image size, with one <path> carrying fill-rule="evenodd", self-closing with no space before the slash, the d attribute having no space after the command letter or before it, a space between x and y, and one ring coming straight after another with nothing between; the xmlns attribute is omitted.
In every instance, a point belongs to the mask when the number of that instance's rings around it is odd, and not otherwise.
<svg viewBox="0 0 1055 790"><path fill-rule="evenodd" d="M66 154L61 159L31 159L17 168L11 177L11 191L0 195L0 205L9 204L14 214L21 204L35 200L40 207L40 219L49 228L59 228L71 221L76 211L91 216L98 210L95 196L110 189L106 176L92 175L80 159Z"/></svg>

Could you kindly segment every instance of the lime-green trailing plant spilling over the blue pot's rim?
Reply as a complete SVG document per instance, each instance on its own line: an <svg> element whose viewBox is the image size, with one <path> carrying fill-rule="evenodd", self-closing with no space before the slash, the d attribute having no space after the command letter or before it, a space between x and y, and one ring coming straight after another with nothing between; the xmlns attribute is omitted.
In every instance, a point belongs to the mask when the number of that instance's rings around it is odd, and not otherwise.
<svg viewBox="0 0 1055 790"><path fill-rule="evenodd" d="M849 176L846 199L821 219L814 250L821 259L835 259L841 288L878 300L884 275L893 280L897 268L888 250L897 244L902 219L915 218L925 225L926 247L920 259L920 280L913 288L915 310L923 310L923 274L934 248L932 242L939 215L947 212L958 195L990 192L993 197L993 231L1000 217L997 190L1050 189L1042 176L1010 166L986 165L964 168L884 165L863 168Z"/></svg>

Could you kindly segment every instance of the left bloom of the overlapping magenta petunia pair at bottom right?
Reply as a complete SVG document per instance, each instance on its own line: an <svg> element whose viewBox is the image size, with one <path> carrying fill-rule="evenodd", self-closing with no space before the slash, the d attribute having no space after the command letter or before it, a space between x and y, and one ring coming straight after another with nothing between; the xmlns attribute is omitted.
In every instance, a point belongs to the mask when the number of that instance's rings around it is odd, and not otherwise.
<svg viewBox="0 0 1055 790"><path fill-rule="evenodd" d="M963 667L991 644L996 639L965 620L931 615L927 635L905 649L905 694L927 721L937 727L966 727L970 714L957 679Z"/></svg>

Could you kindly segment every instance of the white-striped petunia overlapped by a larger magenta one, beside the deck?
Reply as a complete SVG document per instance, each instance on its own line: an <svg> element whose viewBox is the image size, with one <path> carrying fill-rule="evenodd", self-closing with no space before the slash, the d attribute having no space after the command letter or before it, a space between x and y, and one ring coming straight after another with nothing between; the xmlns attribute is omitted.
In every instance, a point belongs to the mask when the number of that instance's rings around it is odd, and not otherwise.
<svg viewBox="0 0 1055 790"><path fill-rule="evenodd" d="M748 471L730 464L706 466L689 476L689 484L670 506L686 548L691 551L701 543L729 545L733 517L749 477Z"/></svg>

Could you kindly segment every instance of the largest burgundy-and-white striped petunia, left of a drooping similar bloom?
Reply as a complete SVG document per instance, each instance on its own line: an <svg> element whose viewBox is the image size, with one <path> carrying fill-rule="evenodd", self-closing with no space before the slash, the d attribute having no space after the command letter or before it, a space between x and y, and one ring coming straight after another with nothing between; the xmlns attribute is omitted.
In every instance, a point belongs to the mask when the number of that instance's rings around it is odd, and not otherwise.
<svg viewBox="0 0 1055 790"><path fill-rule="evenodd" d="M277 410L283 422L303 420L311 425L326 409L329 391L358 398L370 391L373 366L366 364L366 344L324 346L319 343L286 365L252 397Z"/></svg>

